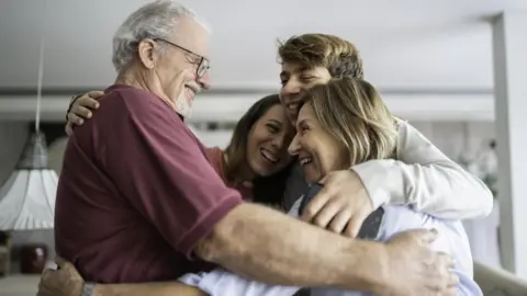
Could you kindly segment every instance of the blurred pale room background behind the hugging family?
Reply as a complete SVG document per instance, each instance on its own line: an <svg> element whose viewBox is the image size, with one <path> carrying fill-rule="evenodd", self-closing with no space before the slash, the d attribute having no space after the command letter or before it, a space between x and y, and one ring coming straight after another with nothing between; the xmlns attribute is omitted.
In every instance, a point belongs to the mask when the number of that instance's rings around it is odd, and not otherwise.
<svg viewBox="0 0 527 296"><path fill-rule="evenodd" d="M34 128L42 34L41 128L49 166L59 173L71 95L113 82L112 36L146 2L47 0L44 8L42 0L0 0L0 185ZM303 33L344 37L360 49L366 79L392 112L495 192L493 213L466 221L474 259L527 278L527 133L520 128L527 119L519 115L527 111L527 50L520 54L527 49L527 1L180 2L213 29L213 88L199 94L189 119L202 141L225 146L239 116L279 90L278 39ZM53 230L4 230L13 250L44 244L53 260ZM21 253L8 252L10 270L18 272Z"/></svg>

